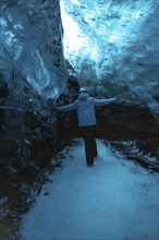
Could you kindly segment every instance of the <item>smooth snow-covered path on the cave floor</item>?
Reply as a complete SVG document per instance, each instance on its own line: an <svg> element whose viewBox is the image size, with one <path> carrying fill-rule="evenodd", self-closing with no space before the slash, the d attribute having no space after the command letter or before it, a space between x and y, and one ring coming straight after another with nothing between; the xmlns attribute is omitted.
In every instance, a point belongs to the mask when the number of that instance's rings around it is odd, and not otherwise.
<svg viewBox="0 0 159 240"><path fill-rule="evenodd" d="M21 240L158 240L159 176L100 140L99 156L87 167L83 140L76 141L63 170L50 176L24 215Z"/></svg>

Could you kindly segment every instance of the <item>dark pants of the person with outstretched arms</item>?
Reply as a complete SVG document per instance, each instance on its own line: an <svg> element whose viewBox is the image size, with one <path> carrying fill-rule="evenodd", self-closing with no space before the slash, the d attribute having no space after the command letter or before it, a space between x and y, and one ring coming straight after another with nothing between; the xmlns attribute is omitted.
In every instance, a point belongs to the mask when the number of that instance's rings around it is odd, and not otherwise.
<svg viewBox="0 0 159 240"><path fill-rule="evenodd" d="M88 165L94 164L94 157L97 156L97 144L95 140L95 125L82 127L82 136L85 142L86 161Z"/></svg>

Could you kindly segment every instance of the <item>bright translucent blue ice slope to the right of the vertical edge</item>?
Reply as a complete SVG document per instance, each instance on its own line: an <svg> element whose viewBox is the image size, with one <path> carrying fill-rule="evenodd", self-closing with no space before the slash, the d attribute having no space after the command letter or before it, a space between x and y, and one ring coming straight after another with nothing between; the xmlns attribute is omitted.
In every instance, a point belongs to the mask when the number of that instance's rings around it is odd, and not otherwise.
<svg viewBox="0 0 159 240"><path fill-rule="evenodd" d="M61 0L64 52L81 85L159 112L158 0Z"/></svg>

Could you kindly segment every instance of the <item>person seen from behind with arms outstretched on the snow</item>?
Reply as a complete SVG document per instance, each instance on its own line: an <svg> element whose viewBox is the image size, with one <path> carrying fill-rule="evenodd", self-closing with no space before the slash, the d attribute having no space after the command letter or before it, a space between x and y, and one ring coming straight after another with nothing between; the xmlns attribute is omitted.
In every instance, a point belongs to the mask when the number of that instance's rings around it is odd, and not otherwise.
<svg viewBox="0 0 159 240"><path fill-rule="evenodd" d="M72 104L58 107L58 111L72 111L76 110L78 127L82 130L82 134L85 142L85 155L87 166L94 165L94 158L97 156L97 144L94 136L93 129L97 124L96 107L108 105L115 101L115 97L106 99L96 99L90 97L87 89L82 87L78 92L78 97Z"/></svg>

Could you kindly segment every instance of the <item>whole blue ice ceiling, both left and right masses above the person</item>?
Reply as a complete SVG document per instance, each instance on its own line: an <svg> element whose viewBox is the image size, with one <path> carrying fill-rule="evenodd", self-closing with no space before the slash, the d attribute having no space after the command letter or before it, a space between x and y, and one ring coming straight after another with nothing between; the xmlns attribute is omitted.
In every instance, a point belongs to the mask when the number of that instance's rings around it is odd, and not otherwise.
<svg viewBox="0 0 159 240"><path fill-rule="evenodd" d="M95 96L159 112L158 0L0 4L0 73L16 103L56 99L69 73ZM74 71L66 73L64 58Z"/></svg>

